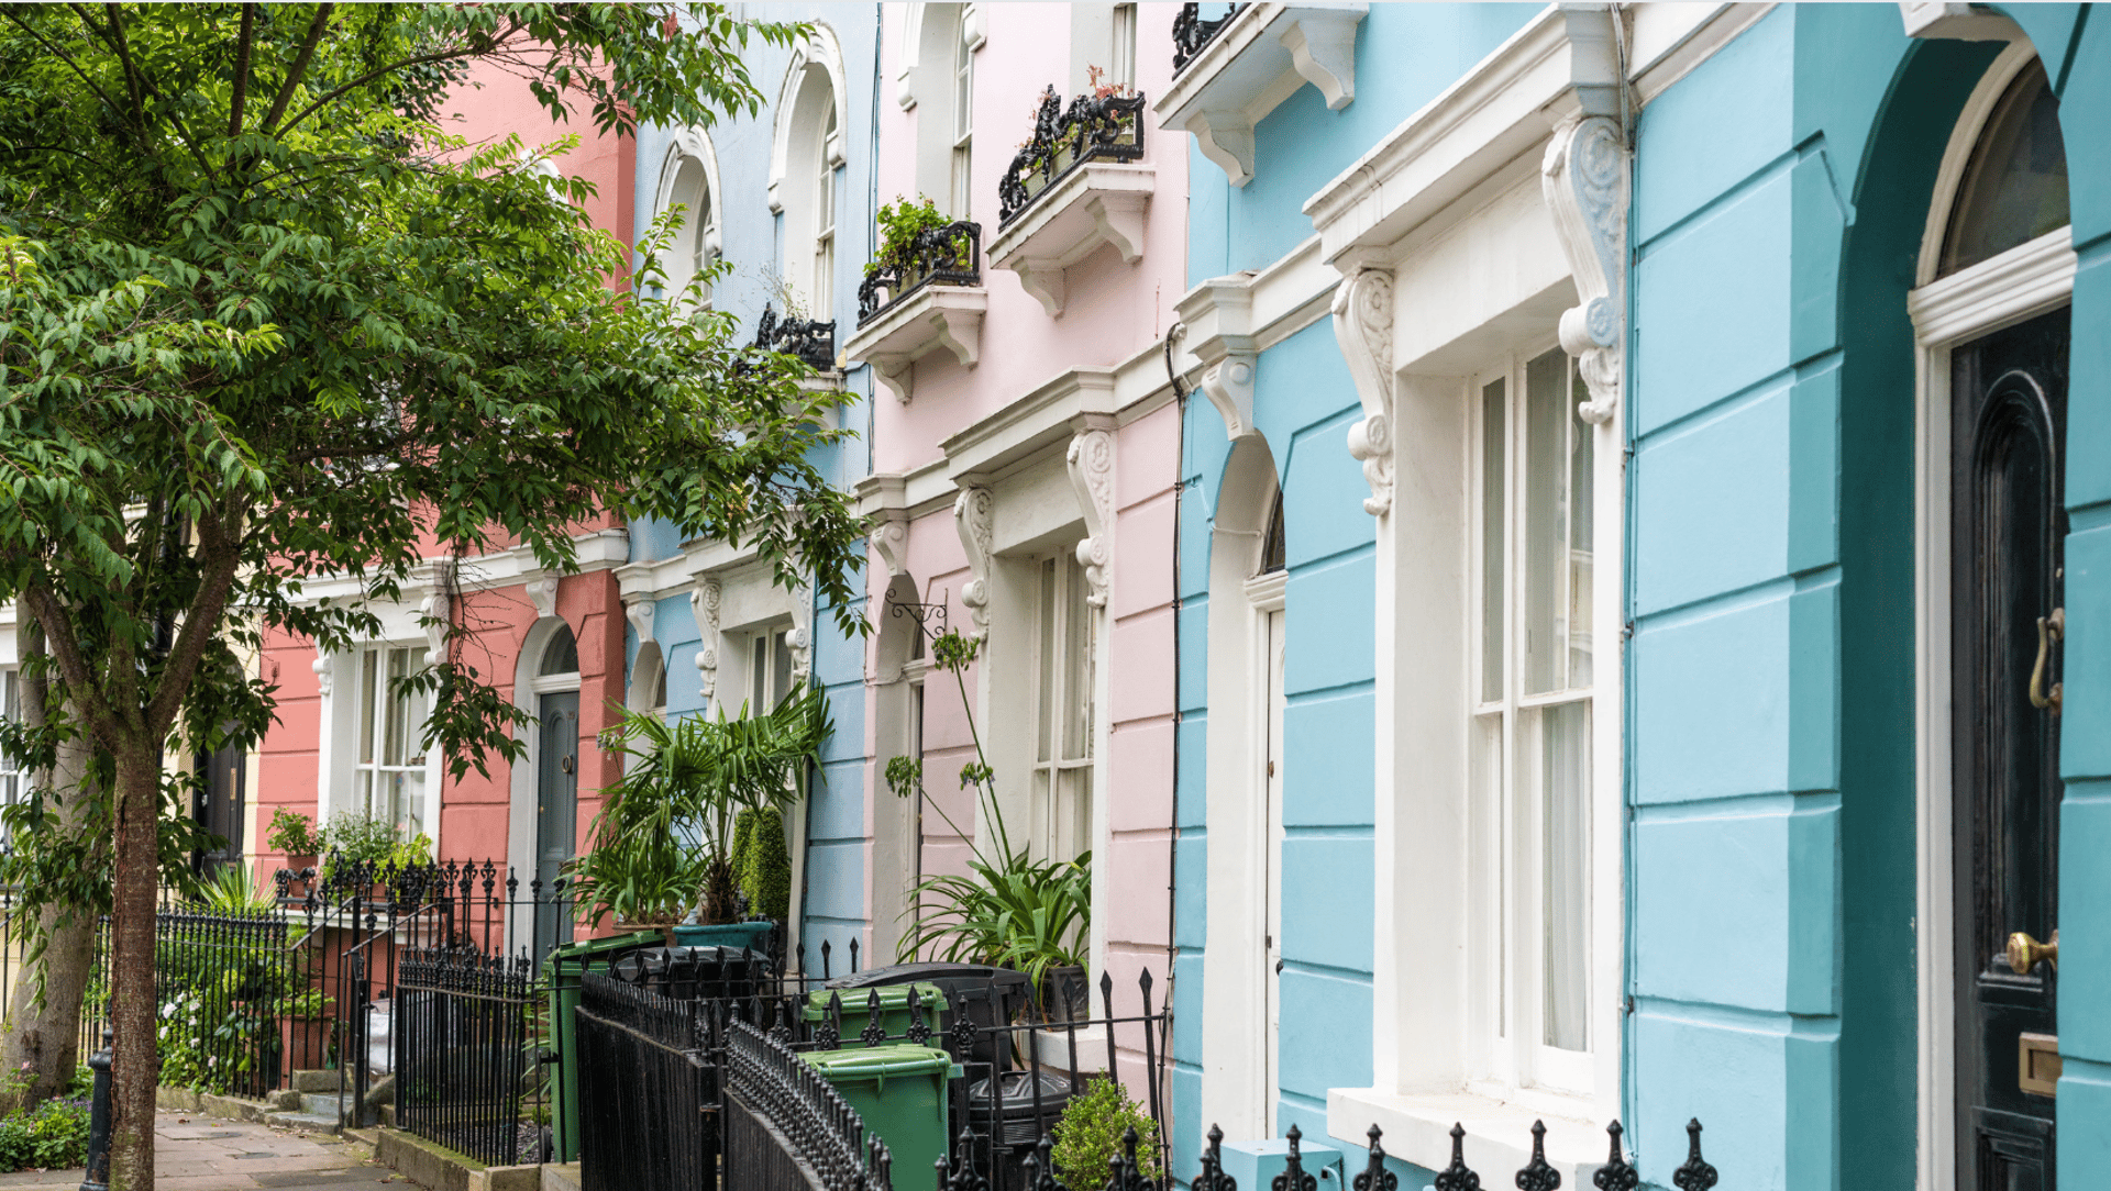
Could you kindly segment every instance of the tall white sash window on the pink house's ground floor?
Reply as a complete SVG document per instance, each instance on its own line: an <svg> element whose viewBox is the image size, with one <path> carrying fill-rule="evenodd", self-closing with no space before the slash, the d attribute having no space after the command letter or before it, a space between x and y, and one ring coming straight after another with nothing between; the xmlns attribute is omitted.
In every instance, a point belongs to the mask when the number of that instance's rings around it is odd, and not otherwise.
<svg viewBox="0 0 2111 1191"><path fill-rule="evenodd" d="M1049 603L1045 580L1053 573L1053 605ZM1098 668L1098 624L1093 620L1093 607L1083 601L1085 584L1083 565L1077 561L1074 548L1058 548L1049 554L1039 554L1032 559L1032 778L1028 780L1028 839L1026 847L1037 858L1070 860L1083 852L1091 850L1091 767L1093 767L1093 717L1098 708L1093 706L1093 681ZM1079 592L1079 601L1072 605L1068 601L1070 592ZM1074 620L1072 616L1074 613ZM1083 637L1083 641L1077 641ZM1083 664L1072 675L1068 666L1060 662L1070 656L1079 656ZM1077 689L1072 689L1077 687ZM1043 734L1049 742L1049 755L1041 755ZM1077 736L1079 746L1072 755L1064 744L1068 736ZM1064 784L1077 797L1077 803L1068 807L1072 818L1070 831L1077 837L1074 847L1058 847L1064 837L1062 816L1066 807L1058 797Z"/></svg>

